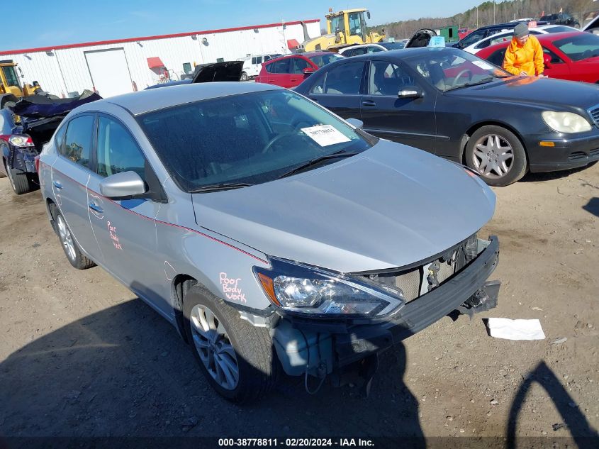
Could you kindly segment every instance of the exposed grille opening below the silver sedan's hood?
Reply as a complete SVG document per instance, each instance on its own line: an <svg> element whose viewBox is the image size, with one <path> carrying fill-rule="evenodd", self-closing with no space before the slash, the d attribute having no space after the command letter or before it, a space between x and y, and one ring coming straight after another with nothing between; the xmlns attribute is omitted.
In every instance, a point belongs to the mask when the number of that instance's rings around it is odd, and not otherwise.
<svg viewBox="0 0 599 449"><path fill-rule="evenodd" d="M371 282L401 289L405 300L412 301L439 287L474 260L477 253L477 238L474 234L444 255L419 262L416 266L407 269L399 267L384 272L359 273L359 275Z"/></svg>

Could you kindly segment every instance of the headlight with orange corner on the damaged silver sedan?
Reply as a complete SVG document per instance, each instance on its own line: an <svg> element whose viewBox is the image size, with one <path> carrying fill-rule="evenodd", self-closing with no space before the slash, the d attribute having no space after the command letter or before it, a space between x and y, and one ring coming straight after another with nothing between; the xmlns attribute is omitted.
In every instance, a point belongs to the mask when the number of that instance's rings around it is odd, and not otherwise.
<svg viewBox="0 0 599 449"><path fill-rule="evenodd" d="M405 304L400 289L276 257L269 260L271 270L254 267L254 274L271 302L285 311L323 318L380 317Z"/></svg>

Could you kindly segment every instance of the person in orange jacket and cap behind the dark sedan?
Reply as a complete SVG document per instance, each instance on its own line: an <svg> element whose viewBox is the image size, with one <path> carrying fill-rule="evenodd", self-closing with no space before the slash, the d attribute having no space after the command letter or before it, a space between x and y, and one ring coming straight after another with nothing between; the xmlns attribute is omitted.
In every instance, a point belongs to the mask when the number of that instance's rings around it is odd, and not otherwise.
<svg viewBox="0 0 599 449"><path fill-rule="evenodd" d="M503 69L524 77L544 76L543 48L539 40L530 35L526 23L515 26L512 42L505 50Z"/></svg>

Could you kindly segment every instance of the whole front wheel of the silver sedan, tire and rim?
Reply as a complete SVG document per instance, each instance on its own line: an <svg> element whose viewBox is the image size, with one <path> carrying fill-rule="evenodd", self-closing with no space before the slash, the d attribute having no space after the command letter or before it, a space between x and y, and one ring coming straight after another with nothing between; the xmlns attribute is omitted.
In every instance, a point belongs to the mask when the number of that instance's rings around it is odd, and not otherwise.
<svg viewBox="0 0 599 449"><path fill-rule="evenodd" d="M279 360L267 328L242 320L233 307L203 287L186 293L184 316L196 360L218 394L240 403L274 387Z"/></svg>

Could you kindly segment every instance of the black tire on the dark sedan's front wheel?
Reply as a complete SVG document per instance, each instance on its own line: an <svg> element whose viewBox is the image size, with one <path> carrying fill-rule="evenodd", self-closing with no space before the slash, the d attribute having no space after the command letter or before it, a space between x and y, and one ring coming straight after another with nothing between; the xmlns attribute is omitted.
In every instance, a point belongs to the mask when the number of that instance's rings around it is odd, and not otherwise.
<svg viewBox="0 0 599 449"><path fill-rule="evenodd" d="M491 136L493 137L491 138ZM492 139L493 142L496 142L496 138L499 139L501 150L493 145L492 148L488 148L488 145L491 145L490 140ZM493 163L493 161L496 163L499 161L499 153L503 153L503 148L510 148L510 150L505 151L503 154L511 155L511 158L506 161L505 166L498 166L497 168L501 173L498 173L493 169L489 172L483 170L487 165L484 164L484 161L480 157L474 154L474 150L478 150L479 154L483 153L484 150L476 148L476 145L486 146L488 153L483 154L482 157L488 157L491 160L491 163ZM472 133L468 143L466 143L464 161L468 167L476 170L487 184L496 187L513 184L526 174L528 167L526 152L520 139L511 131L502 126L495 125L482 126ZM505 167L507 167L507 171L504 171Z"/></svg>

